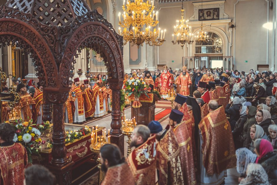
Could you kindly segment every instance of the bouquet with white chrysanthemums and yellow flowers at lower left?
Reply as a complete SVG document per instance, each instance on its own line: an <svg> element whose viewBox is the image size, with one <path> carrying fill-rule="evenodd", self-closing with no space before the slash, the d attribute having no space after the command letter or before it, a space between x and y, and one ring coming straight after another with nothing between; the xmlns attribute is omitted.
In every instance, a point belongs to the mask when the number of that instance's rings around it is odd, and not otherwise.
<svg viewBox="0 0 277 185"><path fill-rule="evenodd" d="M32 123L33 119L30 119L29 122L21 123L16 121L15 124L12 124L16 129L13 141L21 143L26 148L29 163L32 163L32 154L38 154L38 148L41 148L41 145L45 144L40 135L50 128L49 121L41 124Z"/></svg>

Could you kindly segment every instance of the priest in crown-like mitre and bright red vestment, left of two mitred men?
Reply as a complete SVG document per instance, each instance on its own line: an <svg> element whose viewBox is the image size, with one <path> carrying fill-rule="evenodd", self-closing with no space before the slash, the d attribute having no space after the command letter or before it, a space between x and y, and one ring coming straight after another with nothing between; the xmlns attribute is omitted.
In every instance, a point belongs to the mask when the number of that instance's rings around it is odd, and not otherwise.
<svg viewBox="0 0 277 185"><path fill-rule="evenodd" d="M159 79L161 94L163 98L168 97L169 90L171 89L171 85L174 83L174 78L171 73L169 73L167 66L164 66L164 72L161 73L161 77Z"/></svg>

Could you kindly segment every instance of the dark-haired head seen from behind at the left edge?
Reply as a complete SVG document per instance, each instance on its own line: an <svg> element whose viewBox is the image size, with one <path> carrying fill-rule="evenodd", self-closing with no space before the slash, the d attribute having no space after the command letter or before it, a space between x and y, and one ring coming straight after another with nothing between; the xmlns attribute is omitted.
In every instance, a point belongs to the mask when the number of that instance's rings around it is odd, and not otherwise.
<svg viewBox="0 0 277 185"><path fill-rule="evenodd" d="M15 130L9 123L0 124L0 143L13 142Z"/></svg>

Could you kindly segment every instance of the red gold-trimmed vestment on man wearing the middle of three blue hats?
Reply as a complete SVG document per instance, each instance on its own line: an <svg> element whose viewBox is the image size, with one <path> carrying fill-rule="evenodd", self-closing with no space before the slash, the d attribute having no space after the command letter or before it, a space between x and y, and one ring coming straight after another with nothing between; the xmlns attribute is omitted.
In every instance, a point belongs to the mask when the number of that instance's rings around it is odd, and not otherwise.
<svg viewBox="0 0 277 185"><path fill-rule="evenodd" d="M191 122L188 119L174 128L174 135L177 139L180 159L182 166L182 173L184 184L196 184L196 177L194 172L194 159L192 153L192 140L187 129L187 123Z"/></svg>

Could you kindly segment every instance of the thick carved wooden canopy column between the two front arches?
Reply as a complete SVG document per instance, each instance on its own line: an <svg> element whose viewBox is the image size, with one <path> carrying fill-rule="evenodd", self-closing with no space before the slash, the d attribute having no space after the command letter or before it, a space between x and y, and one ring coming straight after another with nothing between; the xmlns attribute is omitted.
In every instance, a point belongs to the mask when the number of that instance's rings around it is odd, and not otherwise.
<svg viewBox="0 0 277 185"><path fill-rule="evenodd" d="M46 98L52 103L53 116L52 161L48 168L56 176L57 184L71 184L71 168L74 165L74 162L68 161L65 148L64 103L69 90L70 88L44 90Z"/></svg>

